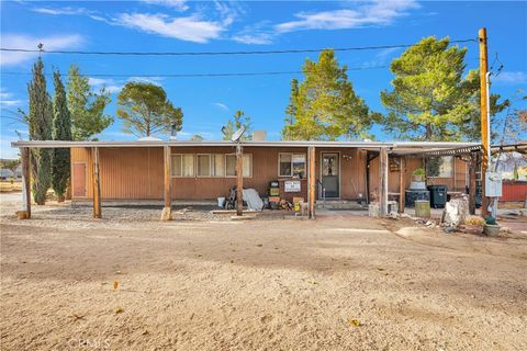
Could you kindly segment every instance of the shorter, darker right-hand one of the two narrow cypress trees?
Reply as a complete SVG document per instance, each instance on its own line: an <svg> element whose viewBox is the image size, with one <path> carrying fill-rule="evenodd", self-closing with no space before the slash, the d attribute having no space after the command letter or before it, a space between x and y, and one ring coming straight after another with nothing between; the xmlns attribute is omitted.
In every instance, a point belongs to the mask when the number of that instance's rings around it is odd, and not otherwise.
<svg viewBox="0 0 527 351"><path fill-rule="evenodd" d="M53 73L55 100L53 102L53 139L71 140L71 115L66 101L66 90L60 80L60 72ZM70 177L69 149L53 149L52 186L59 202L65 199Z"/></svg>

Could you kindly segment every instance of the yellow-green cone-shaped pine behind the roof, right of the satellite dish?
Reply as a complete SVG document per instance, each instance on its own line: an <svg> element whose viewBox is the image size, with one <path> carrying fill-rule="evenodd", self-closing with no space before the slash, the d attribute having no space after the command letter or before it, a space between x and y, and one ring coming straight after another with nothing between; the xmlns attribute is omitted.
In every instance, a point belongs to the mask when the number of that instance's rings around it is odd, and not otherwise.
<svg viewBox="0 0 527 351"><path fill-rule="evenodd" d="M293 140L335 140L369 137L378 120L365 100L355 93L335 53L323 50L318 61L306 59L302 67L304 80L291 82L289 118L282 136Z"/></svg>

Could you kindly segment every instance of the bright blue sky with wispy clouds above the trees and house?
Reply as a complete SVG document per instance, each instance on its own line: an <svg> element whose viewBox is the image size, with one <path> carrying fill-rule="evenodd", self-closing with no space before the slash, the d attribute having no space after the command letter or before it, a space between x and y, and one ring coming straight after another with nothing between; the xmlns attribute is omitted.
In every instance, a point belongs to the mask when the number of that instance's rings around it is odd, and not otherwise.
<svg viewBox="0 0 527 351"><path fill-rule="evenodd" d="M527 90L527 2L524 1L1 1L2 48L88 52L240 52L317 49L414 44L435 35L475 38L487 29L492 92L514 99ZM467 69L478 68L476 43L468 48ZM403 48L338 52L354 89L373 111L385 112L380 92L390 89L389 65ZM35 53L0 53L0 157L15 157L11 141L27 137L13 120L27 111L27 82ZM161 86L183 110L178 138L194 134L221 139L221 127L236 110L254 129L279 139L292 78L299 73L249 77L156 77L156 75L299 71L317 53L228 56L96 56L43 54L47 89L51 75L66 78L70 65L90 77L92 89L112 92L106 114L115 116L116 95L127 81ZM357 69L357 70L355 70ZM100 77L97 75L119 75ZM137 77L141 76L141 77ZM372 133L391 139L380 126ZM159 135L167 138L166 135ZM117 117L100 139L131 140Z"/></svg>

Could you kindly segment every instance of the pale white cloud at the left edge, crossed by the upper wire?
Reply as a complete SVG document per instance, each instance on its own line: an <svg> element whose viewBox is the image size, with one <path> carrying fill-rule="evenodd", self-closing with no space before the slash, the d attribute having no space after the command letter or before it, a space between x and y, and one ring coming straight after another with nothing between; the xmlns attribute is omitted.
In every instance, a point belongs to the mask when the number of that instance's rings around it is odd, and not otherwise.
<svg viewBox="0 0 527 351"><path fill-rule="evenodd" d="M20 34L2 34L2 46L7 48L36 49L38 43L44 44L44 50L60 50L78 47L83 38L78 34L54 36L27 36ZM0 65L10 66L25 63L38 57L38 53L1 52Z"/></svg>

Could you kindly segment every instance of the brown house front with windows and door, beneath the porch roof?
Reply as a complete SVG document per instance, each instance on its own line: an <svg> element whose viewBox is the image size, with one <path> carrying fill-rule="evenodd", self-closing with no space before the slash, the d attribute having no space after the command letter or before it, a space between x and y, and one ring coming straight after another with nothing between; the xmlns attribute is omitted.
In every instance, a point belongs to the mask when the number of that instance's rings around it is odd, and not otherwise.
<svg viewBox="0 0 527 351"><path fill-rule="evenodd" d="M160 141L167 143L167 141ZM101 197L103 200L160 200L164 196L164 150L136 141L120 147L99 149ZM171 196L173 200L213 200L225 196L236 186L236 155L229 141L170 141ZM348 143L348 141L244 141L244 188L254 188L260 195L268 192L270 181L278 180L281 197L307 197L307 148L315 146L317 199L368 199L379 188L379 147L415 154L418 143ZM430 145L427 145L430 147ZM438 146L452 147L452 144ZM394 154L395 155L395 154ZM368 157L370 161L368 162ZM396 159L395 157L391 159ZM449 190L464 191L467 162L447 157L441 174L429 178ZM71 148L72 199L90 200L93 194L90 147ZM411 174L423 167L423 159L408 158L404 186ZM369 169L369 174L367 170ZM285 182L300 184L295 192L285 191ZM400 192L400 170L390 168L389 192Z"/></svg>

